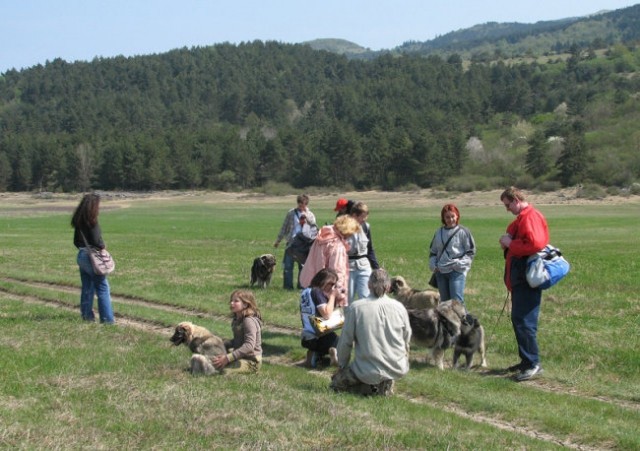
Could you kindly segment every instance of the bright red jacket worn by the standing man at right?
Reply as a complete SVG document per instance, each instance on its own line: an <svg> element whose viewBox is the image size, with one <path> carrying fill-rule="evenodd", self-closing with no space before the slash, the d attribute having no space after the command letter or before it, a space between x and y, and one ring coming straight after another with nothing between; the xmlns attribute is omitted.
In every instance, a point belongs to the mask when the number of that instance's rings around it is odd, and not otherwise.
<svg viewBox="0 0 640 451"><path fill-rule="evenodd" d="M511 244L507 249L504 283L511 291L511 260L513 257L528 257L549 244L549 227L542 213L527 205L507 227Z"/></svg>

